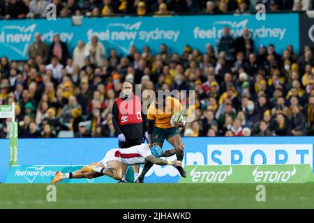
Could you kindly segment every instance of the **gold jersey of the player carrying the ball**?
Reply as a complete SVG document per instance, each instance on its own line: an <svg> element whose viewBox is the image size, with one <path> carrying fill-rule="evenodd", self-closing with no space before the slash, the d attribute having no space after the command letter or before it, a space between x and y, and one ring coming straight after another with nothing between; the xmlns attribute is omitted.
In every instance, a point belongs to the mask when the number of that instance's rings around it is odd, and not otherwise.
<svg viewBox="0 0 314 223"><path fill-rule="evenodd" d="M153 102L147 110L147 119L154 120L155 126L158 128L172 128L170 119L176 112L182 111L182 105L179 100L167 97L165 102L165 109L156 109L155 102Z"/></svg>

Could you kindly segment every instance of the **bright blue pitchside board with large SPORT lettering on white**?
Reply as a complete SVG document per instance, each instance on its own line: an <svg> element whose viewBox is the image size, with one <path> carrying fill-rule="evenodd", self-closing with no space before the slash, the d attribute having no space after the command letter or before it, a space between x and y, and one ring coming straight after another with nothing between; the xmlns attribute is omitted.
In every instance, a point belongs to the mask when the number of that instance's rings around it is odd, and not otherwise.
<svg viewBox="0 0 314 223"><path fill-rule="evenodd" d="M311 164L314 137L184 137L186 165ZM19 139L19 165L87 165L117 148L115 138ZM172 146L165 143L164 150ZM8 175L8 139L0 140L0 182ZM175 156L168 157L174 160ZM172 166L154 165L146 183L176 183Z"/></svg>

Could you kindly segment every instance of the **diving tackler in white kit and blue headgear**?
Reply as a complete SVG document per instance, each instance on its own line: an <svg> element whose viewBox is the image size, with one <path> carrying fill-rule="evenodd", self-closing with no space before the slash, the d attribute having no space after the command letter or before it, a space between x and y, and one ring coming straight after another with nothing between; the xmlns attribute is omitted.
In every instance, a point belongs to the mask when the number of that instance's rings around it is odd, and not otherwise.
<svg viewBox="0 0 314 223"><path fill-rule="evenodd" d="M61 173L61 171L58 171L51 183L54 184L68 178L96 178L103 175L110 176L115 180L121 180L127 165L144 164L145 162L151 162L160 166L172 165L174 167L181 167L181 161L167 161L159 158L174 154L174 149L163 151L160 147L153 146L149 148L147 144L123 149L113 148L98 163L90 164L73 173Z"/></svg>

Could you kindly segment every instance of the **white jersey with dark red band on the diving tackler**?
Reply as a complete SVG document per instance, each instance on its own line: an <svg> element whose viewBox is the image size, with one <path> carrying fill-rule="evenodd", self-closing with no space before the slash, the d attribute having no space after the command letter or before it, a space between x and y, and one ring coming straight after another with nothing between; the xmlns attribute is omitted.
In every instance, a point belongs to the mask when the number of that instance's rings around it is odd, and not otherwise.
<svg viewBox="0 0 314 223"><path fill-rule="evenodd" d="M140 144L130 148L119 148L114 154L120 157L121 161L126 165L135 165L145 163L145 157L151 155L151 149L147 144Z"/></svg>

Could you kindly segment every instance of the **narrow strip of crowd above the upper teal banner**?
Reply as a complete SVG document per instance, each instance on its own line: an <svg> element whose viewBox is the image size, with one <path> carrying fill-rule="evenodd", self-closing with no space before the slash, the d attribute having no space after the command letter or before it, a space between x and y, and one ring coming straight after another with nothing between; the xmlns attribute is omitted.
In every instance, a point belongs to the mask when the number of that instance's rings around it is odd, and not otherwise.
<svg viewBox="0 0 314 223"><path fill-rule="evenodd" d="M176 15L184 13L248 13L263 3L269 12L311 10L310 0L0 0L0 16L6 19L45 17L54 3L57 17L84 15Z"/></svg>

